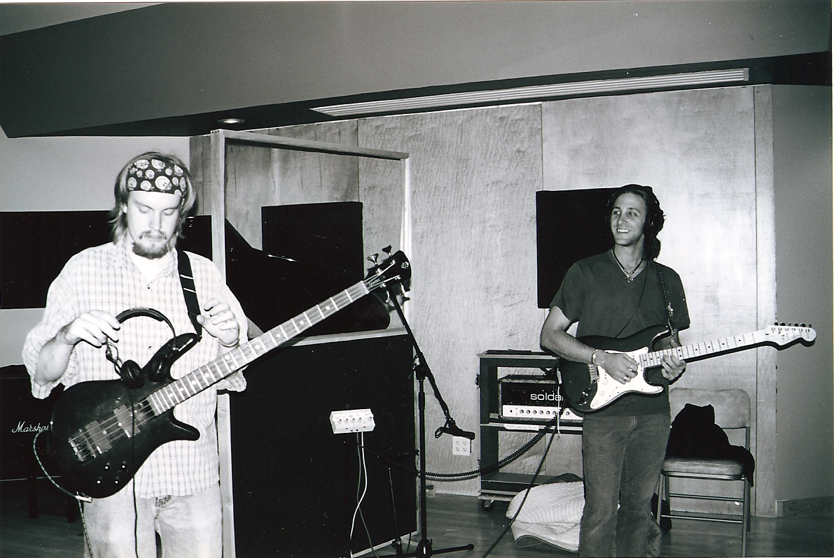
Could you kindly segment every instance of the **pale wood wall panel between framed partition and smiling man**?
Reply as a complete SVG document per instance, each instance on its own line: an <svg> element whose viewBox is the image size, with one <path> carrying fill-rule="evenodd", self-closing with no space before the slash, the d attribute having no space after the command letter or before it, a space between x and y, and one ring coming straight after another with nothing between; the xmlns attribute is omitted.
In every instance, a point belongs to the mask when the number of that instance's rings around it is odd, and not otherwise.
<svg viewBox="0 0 834 558"><path fill-rule="evenodd" d="M536 105L359 123L361 147L410 154L413 288L409 323L458 426L478 431L477 354L537 349L543 313L535 303L535 192L541 189ZM430 471L477 468L452 456L445 421L426 383ZM438 491L477 493L478 480L437 482Z"/></svg>

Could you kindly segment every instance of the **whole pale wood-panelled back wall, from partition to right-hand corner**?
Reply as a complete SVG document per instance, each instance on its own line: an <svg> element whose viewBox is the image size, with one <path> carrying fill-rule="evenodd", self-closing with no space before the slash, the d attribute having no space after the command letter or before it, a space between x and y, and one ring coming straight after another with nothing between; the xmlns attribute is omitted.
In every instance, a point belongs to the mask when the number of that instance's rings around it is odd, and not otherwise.
<svg viewBox="0 0 834 558"><path fill-rule="evenodd" d="M545 316L535 304L540 189L627 182L656 187L667 216L660 259L680 272L687 289L692 326L683 333L685 343L756 331L762 320L772 321L776 281L767 270L775 248L761 240L772 241L772 232L762 230L763 223L774 227L772 195L760 186L770 183L761 175L772 167L756 167L766 151L757 132L770 120L769 112L761 118L756 112L756 91L662 92L350 121L357 122L360 147L410 154L410 321L459 426L478 430L479 352L538 349ZM332 126L319 125L317 133ZM273 133L294 136L299 128ZM360 171L360 188L373 176ZM772 397L758 393L775 384L775 350L766 351L763 358L741 351L692 363L680 385L745 389L754 416L770 420ZM430 394L429 431L443 421ZM501 455L524 436L505 436L510 439L502 439ZM774 436L772 428L756 432L754 426L753 451L761 442L767 456ZM576 441L560 441L564 447L555 451L564 451L548 461L547 474L581 472ZM478 444L469 458L452 456L447 437L430 436L430 471L475 469ZM534 451L516 466L535 468L539 456ZM764 495L763 515L772 515L774 484L773 468L762 467L756 485ZM435 486L477 493L476 480Z"/></svg>

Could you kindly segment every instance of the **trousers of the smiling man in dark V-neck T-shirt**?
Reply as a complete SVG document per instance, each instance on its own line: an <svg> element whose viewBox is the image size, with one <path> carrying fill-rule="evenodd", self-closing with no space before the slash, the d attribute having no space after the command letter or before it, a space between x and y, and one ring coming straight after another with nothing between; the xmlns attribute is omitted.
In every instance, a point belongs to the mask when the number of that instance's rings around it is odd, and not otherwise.
<svg viewBox="0 0 834 558"><path fill-rule="evenodd" d="M660 531L651 515L651 496L666 456L669 426L668 413L585 415L580 556L654 555L649 538Z"/></svg>

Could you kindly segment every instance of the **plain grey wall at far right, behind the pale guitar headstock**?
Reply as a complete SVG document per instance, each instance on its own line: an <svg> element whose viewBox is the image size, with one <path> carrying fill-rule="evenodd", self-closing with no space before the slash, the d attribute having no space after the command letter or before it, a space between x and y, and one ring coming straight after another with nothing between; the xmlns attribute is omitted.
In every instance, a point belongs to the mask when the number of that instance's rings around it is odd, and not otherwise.
<svg viewBox="0 0 834 558"><path fill-rule="evenodd" d="M774 86L773 145L778 318L816 330L777 361L776 500L831 497L831 88Z"/></svg>

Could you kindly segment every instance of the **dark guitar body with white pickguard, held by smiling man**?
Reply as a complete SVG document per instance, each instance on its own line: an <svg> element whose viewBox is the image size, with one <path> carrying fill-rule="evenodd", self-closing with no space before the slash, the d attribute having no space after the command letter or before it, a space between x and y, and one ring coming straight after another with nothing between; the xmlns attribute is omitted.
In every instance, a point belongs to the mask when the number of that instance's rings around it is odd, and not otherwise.
<svg viewBox="0 0 834 558"><path fill-rule="evenodd" d="M669 329L666 326L651 326L632 336L620 339L584 336L580 337L579 341L606 352L625 353L640 363L640 356L648 354L655 342L668 334ZM568 403L575 410L585 413L600 411L620 397L629 394L660 395L666 388L651 383L646 377L646 373L654 368L656 366L638 365L637 376L625 384L620 384L619 381L609 376L602 366L566 360L562 360L559 365Z"/></svg>

